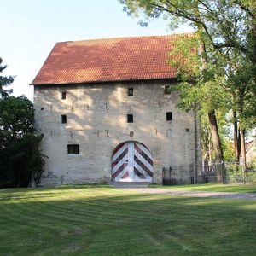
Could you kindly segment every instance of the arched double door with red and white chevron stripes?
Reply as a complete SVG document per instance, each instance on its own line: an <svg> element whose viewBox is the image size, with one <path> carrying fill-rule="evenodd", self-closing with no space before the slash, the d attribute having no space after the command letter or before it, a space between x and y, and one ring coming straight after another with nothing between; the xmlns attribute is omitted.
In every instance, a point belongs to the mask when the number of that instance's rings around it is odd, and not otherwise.
<svg viewBox="0 0 256 256"><path fill-rule="evenodd" d="M152 182L152 154L141 143L127 142L112 157L112 178L116 182Z"/></svg>

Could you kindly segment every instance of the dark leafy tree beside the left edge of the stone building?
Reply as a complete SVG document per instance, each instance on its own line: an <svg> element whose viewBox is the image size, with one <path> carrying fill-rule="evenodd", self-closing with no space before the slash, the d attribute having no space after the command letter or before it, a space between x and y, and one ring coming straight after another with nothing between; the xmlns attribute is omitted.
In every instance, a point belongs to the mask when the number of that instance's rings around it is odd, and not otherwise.
<svg viewBox="0 0 256 256"><path fill-rule="evenodd" d="M42 137L33 127L32 102L25 96L0 100L0 187L27 187L31 177L38 183L44 159ZM33 182L33 181L32 181Z"/></svg>

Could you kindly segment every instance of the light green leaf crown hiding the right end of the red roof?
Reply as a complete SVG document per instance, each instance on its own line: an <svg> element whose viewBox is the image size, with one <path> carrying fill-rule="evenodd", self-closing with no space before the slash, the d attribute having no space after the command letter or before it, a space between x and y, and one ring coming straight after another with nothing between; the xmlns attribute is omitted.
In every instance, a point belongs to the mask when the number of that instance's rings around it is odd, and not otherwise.
<svg viewBox="0 0 256 256"><path fill-rule="evenodd" d="M177 79L180 83L172 90L179 90L178 107L189 111L196 108L199 113L212 109L227 108L230 94L224 90L224 68L221 58L204 63L202 70L202 53L198 34L180 38L172 42L170 65L177 67ZM208 60L210 56L207 57Z"/></svg>

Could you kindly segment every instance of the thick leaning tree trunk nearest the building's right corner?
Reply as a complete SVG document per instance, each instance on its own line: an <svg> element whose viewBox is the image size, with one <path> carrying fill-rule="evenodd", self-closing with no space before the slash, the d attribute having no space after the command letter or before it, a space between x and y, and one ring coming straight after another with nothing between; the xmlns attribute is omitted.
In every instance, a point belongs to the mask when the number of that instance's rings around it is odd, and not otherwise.
<svg viewBox="0 0 256 256"><path fill-rule="evenodd" d="M217 180L218 183L224 183L224 158L220 143L220 137L218 134L218 123L214 110L208 112L208 120L210 124L212 143L216 158Z"/></svg>

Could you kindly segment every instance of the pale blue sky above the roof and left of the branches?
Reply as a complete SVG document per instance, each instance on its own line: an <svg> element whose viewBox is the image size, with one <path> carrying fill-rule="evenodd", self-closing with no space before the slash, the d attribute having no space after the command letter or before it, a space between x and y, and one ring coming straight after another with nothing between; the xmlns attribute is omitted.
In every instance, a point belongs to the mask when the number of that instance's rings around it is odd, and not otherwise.
<svg viewBox="0 0 256 256"><path fill-rule="evenodd" d="M29 85L56 42L191 32L183 26L168 30L166 21L137 24L118 0L0 0L0 57L15 76L14 95L33 98Z"/></svg>

